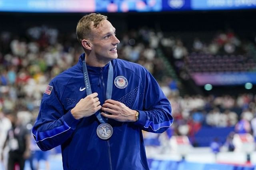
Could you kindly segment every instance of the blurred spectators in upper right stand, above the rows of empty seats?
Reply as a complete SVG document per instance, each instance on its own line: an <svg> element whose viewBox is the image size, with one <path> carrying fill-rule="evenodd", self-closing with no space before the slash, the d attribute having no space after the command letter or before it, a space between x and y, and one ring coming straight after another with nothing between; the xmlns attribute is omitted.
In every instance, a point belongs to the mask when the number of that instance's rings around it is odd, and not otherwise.
<svg viewBox="0 0 256 170"><path fill-rule="evenodd" d="M255 54L256 35L238 36L232 29L226 31L192 33L193 35L168 35L162 45L169 47L174 59L183 59L191 53L207 55L251 55Z"/></svg>

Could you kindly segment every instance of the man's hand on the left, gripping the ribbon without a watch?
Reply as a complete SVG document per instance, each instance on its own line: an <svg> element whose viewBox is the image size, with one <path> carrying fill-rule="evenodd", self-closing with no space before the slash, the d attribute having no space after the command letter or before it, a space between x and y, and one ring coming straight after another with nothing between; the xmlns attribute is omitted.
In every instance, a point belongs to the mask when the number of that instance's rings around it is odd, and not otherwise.
<svg viewBox="0 0 256 170"><path fill-rule="evenodd" d="M93 93L81 99L76 106L71 109L71 114L75 119L89 117L101 109L98 93Z"/></svg>

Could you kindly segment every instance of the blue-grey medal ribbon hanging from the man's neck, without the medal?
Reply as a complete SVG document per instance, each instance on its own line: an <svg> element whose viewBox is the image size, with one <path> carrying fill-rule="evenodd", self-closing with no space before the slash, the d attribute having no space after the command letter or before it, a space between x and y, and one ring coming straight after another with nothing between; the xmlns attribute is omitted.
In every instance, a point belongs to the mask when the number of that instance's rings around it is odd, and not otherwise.
<svg viewBox="0 0 256 170"><path fill-rule="evenodd" d="M83 73L84 73L84 85L85 85L86 95L88 96L92 94L92 89L90 86L90 80L88 76L88 70L87 70L85 59L83 61ZM111 99L111 96L112 96L113 74L114 74L113 65L110 61L109 68L108 68L108 82L107 82L108 84L107 84L107 91L106 91L106 99ZM97 119L100 121L100 123L107 122L107 118L102 117L100 114L100 111L96 112L95 114Z"/></svg>

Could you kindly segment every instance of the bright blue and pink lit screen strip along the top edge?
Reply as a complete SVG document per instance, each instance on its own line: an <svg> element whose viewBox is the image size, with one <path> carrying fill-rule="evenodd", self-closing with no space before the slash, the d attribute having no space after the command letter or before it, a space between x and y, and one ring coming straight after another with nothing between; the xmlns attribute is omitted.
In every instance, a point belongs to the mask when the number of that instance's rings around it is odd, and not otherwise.
<svg viewBox="0 0 256 170"><path fill-rule="evenodd" d="M256 9L256 0L0 0L0 12L163 12Z"/></svg>

